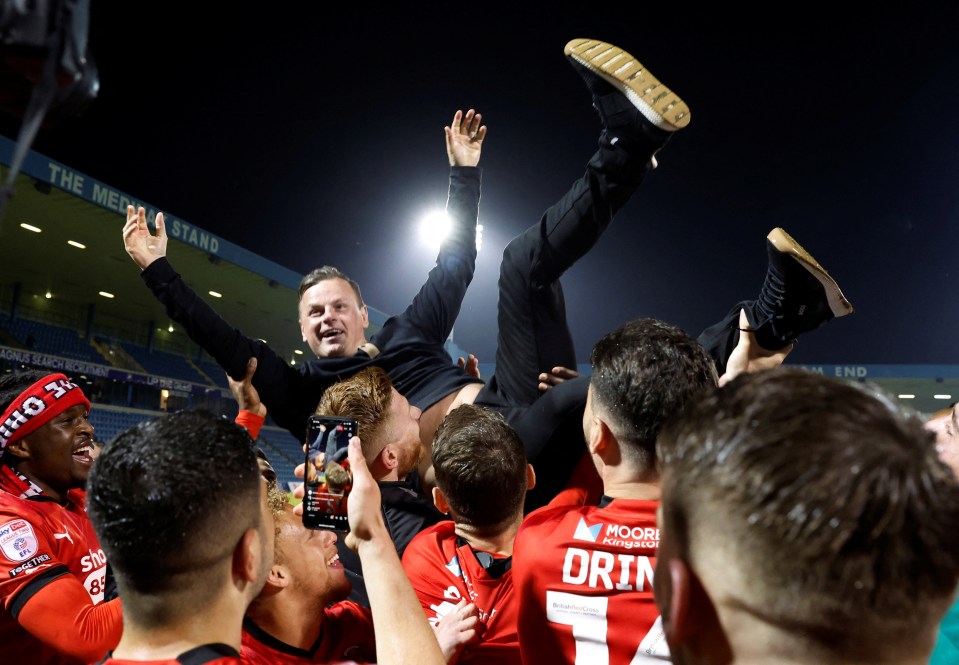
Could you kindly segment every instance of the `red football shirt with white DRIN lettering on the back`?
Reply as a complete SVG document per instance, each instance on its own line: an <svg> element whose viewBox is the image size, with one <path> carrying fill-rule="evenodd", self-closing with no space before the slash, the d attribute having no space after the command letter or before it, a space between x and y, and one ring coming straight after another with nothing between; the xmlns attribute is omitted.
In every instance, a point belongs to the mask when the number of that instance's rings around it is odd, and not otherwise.
<svg viewBox="0 0 959 665"><path fill-rule="evenodd" d="M669 660L653 601L658 505L615 499L527 515L513 547L524 663Z"/></svg>

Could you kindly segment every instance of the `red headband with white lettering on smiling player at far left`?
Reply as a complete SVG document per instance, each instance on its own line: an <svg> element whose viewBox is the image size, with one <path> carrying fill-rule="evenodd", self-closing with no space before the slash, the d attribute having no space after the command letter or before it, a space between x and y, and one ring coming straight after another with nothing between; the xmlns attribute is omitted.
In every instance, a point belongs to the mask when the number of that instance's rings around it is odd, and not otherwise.
<svg viewBox="0 0 959 665"><path fill-rule="evenodd" d="M77 404L90 411L90 400L66 375L48 374L20 393L0 416L0 450Z"/></svg>

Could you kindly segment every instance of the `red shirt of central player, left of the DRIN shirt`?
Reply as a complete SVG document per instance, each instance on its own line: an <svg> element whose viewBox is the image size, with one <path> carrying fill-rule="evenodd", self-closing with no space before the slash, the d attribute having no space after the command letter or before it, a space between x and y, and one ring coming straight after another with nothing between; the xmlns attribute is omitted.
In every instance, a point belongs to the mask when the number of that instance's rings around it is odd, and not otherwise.
<svg viewBox="0 0 959 665"><path fill-rule="evenodd" d="M468 645L458 662L520 663L512 570L490 576L469 544L457 543L454 528L453 522L444 521L424 529L403 554L403 568L420 605L435 626L461 598L469 598L484 629L480 641Z"/></svg>

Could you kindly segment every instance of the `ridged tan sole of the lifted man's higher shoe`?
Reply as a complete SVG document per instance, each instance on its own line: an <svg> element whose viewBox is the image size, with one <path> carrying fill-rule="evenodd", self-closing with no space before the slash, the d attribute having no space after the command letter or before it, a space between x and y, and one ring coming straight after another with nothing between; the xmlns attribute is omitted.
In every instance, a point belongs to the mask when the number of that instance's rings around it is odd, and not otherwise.
<svg viewBox="0 0 959 665"><path fill-rule="evenodd" d="M629 53L595 39L573 39L563 53L615 86L654 126L675 132L689 124L689 107Z"/></svg>

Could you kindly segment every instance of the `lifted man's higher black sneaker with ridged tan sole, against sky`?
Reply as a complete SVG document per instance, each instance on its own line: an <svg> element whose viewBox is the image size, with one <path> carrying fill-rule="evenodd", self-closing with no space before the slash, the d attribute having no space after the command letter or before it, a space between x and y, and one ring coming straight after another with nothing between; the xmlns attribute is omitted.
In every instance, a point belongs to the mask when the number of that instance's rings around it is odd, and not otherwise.
<svg viewBox="0 0 959 665"><path fill-rule="evenodd" d="M639 129L664 140L689 124L689 107L623 49L574 39L563 52L593 94L607 129Z"/></svg>

